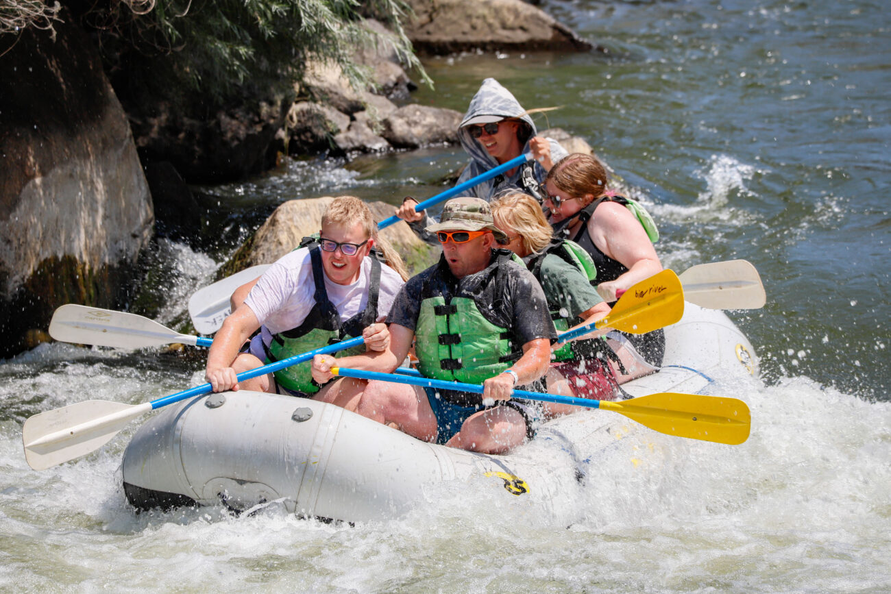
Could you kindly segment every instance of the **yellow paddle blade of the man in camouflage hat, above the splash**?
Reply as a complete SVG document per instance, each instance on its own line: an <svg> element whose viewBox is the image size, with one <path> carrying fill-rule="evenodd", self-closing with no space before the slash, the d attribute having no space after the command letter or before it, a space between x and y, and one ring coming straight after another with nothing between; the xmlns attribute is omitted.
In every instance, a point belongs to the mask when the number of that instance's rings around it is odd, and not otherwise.
<svg viewBox="0 0 891 594"><path fill-rule="evenodd" d="M601 401L615 411L666 435L736 445L748 439L752 417L737 398L662 392L623 402Z"/></svg>

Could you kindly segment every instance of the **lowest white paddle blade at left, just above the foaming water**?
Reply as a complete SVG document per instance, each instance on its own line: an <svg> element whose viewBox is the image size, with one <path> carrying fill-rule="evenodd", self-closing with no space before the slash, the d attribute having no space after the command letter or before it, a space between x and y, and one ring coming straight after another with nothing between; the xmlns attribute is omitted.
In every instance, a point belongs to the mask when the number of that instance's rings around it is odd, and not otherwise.
<svg viewBox="0 0 891 594"><path fill-rule="evenodd" d="M148 411L151 403L86 400L41 412L21 427L25 460L35 470L74 460L98 450L127 423Z"/></svg>

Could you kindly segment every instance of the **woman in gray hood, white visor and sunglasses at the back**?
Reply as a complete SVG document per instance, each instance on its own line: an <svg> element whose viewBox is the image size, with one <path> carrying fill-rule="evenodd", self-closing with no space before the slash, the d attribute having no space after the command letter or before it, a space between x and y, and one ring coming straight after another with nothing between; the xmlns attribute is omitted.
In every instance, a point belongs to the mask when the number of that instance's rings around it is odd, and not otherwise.
<svg viewBox="0 0 891 594"><path fill-rule="evenodd" d="M486 78L470 100L458 129L458 138L471 159L457 183L464 183L520 154L532 153L535 159L479 183L465 195L490 200L503 191L519 190L544 199L544 177L553 164L568 153L559 142L536 134L535 122L513 94L495 78ZM396 216L405 219L413 231L424 238L422 230L433 221L426 211L414 212L417 204L417 200L406 198L396 210Z"/></svg>

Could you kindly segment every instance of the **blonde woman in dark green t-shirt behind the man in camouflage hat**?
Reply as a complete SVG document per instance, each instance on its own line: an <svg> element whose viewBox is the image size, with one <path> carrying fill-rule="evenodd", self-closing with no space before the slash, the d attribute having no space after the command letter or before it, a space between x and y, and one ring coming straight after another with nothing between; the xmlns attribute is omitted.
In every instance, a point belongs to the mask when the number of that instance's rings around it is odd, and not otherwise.
<svg viewBox="0 0 891 594"><path fill-rule="evenodd" d="M523 258L542 284L558 331L600 320L609 313L609 305L584 272L587 263L579 257L584 256L584 252L552 236L551 225L534 198L511 192L495 199L491 207L495 224L508 237L505 247ZM548 392L594 400L620 397L617 379L606 361L609 346L596 338L604 333L598 331L555 348L547 375ZM544 408L550 416L577 410L552 403Z"/></svg>

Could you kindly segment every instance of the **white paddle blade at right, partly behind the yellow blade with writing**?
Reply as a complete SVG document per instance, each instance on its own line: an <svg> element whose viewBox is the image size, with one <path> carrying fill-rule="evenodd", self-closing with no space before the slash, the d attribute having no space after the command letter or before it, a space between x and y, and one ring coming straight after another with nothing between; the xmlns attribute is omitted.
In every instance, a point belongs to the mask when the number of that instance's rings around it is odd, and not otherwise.
<svg viewBox="0 0 891 594"><path fill-rule="evenodd" d="M767 296L755 266L747 260L699 264L680 275L683 298L708 309L758 309Z"/></svg>

